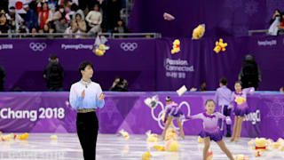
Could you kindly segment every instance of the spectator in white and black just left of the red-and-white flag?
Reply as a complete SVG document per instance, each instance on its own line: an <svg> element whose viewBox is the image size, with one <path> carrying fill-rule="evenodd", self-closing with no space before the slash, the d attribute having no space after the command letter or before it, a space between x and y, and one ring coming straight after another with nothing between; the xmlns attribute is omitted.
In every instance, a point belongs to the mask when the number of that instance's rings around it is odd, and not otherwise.
<svg viewBox="0 0 284 160"><path fill-rule="evenodd" d="M6 14L7 20L9 20L10 29L12 33L19 32L20 26L24 22L24 20L20 17L18 13L16 13L15 7L9 8L9 13Z"/></svg>

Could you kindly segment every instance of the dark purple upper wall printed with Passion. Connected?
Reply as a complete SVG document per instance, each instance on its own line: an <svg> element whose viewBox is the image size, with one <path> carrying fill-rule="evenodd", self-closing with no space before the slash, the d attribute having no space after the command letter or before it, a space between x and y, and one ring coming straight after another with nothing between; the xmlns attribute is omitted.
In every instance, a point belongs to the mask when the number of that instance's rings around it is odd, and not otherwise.
<svg viewBox="0 0 284 160"><path fill-rule="evenodd" d="M172 38L111 39L103 57L91 52L92 39L0 39L0 65L6 70L5 90L46 91L43 69L51 53L65 70L64 90L78 81L83 60L94 64L93 80L107 91L115 76L129 82L131 92L176 91L182 85L216 90L226 77L233 89L245 54L252 53L262 72L259 90L279 91L284 79L284 36L223 37L225 52L213 52L218 38L180 39L180 52L171 54Z"/></svg>

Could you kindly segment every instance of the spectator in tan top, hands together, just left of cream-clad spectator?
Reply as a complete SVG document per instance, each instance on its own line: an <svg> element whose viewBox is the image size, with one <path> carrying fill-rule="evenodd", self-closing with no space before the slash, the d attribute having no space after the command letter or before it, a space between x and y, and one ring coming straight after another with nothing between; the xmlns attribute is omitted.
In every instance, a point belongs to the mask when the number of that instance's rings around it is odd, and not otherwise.
<svg viewBox="0 0 284 160"><path fill-rule="evenodd" d="M75 20L71 22L72 32L76 34L81 34L86 32L86 22L82 19L81 14L77 13L75 15ZM82 38L83 36L75 36L76 38Z"/></svg>

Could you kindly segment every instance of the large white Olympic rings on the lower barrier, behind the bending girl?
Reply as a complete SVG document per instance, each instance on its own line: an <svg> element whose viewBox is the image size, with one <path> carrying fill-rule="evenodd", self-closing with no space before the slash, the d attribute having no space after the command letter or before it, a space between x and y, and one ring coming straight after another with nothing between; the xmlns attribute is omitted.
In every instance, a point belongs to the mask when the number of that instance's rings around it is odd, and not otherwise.
<svg viewBox="0 0 284 160"><path fill-rule="evenodd" d="M154 115L154 109L158 108L159 106L162 108L162 111L158 114L158 116L155 116ZM187 108L187 116L190 116L190 105L186 101L182 101L178 105L178 108L182 108L183 106L185 106ZM162 123L162 115L165 113L165 111L166 111L165 109L166 108L163 106L161 101L157 101L157 106L154 107L154 108L151 108L151 115L152 115L153 119L158 122L159 127L162 130L165 128L164 124ZM181 118L180 121L181 121L181 124L184 124L185 118ZM179 130L179 128L175 124L174 124L173 127L175 128L175 130Z"/></svg>

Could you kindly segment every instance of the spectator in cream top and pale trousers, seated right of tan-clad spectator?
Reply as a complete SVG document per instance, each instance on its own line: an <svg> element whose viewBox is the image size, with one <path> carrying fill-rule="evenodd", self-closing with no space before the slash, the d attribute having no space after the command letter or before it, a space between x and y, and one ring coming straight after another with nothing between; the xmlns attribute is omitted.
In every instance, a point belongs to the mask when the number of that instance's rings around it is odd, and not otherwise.
<svg viewBox="0 0 284 160"><path fill-rule="evenodd" d="M96 34L101 30L100 24L102 22L102 15L99 12L98 4L95 4L94 11L88 13L86 20L89 22L89 26L91 27L89 33Z"/></svg>

